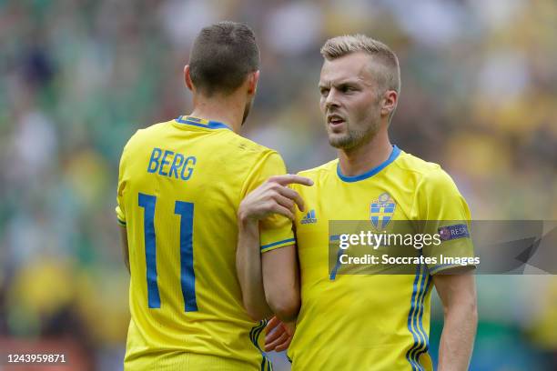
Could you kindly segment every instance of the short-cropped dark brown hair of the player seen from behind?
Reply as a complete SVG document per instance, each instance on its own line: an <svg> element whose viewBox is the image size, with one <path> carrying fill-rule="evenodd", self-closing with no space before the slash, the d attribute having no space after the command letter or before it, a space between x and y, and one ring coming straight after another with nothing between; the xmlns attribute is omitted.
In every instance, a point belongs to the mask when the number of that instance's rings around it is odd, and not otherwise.
<svg viewBox="0 0 557 371"><path fill-rule="evenodd" d="M203 28L191 48L189 75L205 95L234 92L259 68L259 48L251 28L218 22Z"/></svg>

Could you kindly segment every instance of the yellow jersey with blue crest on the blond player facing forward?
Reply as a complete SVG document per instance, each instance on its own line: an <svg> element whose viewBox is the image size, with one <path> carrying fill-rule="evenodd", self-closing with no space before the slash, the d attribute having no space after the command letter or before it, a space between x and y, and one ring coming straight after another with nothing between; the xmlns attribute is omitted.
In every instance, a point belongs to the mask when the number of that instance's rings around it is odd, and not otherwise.
<svg viewBox="0 0 557 371"><path fill-rule="evenodd" d="M468 206L451 177L396 146L387 161L362 175L342 175L338 159L299 175L311 178L314 186L293 186L307 210L296 216L301 309L289 347L292 369L432 370L431 276L451 265L418 264L411 266L411 275L335 276L329 265L329 221L383 226L390 220L469 221ZM468 232L424 247L422 254L441 251L473 256Z"/></svg>

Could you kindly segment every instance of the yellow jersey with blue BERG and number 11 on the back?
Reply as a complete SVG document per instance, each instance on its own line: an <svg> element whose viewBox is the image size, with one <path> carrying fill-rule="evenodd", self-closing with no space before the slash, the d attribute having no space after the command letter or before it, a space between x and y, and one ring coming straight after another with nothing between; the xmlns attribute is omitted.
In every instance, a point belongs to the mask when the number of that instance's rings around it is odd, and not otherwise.
<svg viewBox="0 0 557 371"><path fill-rule="evenodd" d="M242 306L237 212L250 190L285 171L276 152L197 117L131 137L116 207L131 268L126 369L196 369L192 354L223 360L198 364L206 371L270 369L259 342L265 322ZM287 218L260 226L261 246L293 244Z"/></svg>

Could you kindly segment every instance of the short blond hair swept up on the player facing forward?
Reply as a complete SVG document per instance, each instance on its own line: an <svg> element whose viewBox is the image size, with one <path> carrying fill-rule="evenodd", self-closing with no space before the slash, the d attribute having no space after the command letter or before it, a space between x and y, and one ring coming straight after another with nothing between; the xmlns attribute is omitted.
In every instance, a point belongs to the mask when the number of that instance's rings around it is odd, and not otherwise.
<svg viewBox="0 0 557 371"><path fill-rule="evenodd" d="M394 90L400 93L400 65L397 55L390 47L366 35L343 35L330 38L321 47L321 55L327 60L337 59L352 53L366 53L379 62L380 68L377 82L385 90Z"/></svg>

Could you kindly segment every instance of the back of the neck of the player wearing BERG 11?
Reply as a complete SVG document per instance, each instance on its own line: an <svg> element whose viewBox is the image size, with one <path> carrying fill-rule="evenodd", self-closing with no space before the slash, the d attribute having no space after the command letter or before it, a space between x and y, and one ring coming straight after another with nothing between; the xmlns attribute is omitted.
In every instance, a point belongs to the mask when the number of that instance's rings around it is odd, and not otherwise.
<svg viewBox="0 0 557 371"><path fill-rule="evenodd" d="M197 95L193 99L194 109L192 116L204 118L210 121L230 126L235 132L239 133L246 107L246 98L238 94L227 96L213 95L210 98Z"/></svg>

